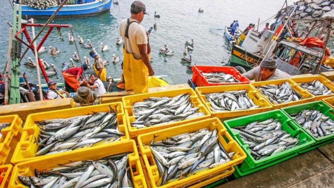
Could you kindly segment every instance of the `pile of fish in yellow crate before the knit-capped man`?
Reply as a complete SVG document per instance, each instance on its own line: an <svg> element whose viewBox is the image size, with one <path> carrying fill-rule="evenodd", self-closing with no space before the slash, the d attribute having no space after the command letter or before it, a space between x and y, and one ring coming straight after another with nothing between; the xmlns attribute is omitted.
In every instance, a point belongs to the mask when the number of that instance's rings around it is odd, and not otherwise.
<svg viewBox="0 0 334 188"><path fill-rule="evenodd" d="M303 97L296 92L289 82L285 82L282 85L267 85L259 86L261 93L268 96L268 99L273 104L282 104L291 101L298 101L303 99Z"/></svg>

